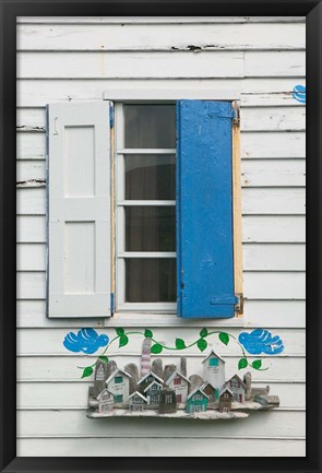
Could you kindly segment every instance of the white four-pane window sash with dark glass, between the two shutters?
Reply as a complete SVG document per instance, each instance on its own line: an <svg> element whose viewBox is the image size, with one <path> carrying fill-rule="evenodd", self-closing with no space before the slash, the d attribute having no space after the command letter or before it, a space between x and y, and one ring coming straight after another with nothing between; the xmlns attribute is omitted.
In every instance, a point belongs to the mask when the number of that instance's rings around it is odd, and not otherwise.
<svg viewBox="0 0 322 473"><path fill-rule="evenodd" d="M116 310L176 311L176 107L116 106Z"/></svg>

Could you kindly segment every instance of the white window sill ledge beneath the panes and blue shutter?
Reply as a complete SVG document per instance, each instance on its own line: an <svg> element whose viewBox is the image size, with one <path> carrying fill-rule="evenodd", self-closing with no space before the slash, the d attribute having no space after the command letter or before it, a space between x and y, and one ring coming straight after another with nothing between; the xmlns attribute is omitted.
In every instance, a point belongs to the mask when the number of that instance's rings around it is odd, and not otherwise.
<svg viewBox="0 0 322 473"><path fill-rule="evenodd" d="M104 327L248 327L245 317L231 319L182 319L176 314L138 314L116 312L111 318L105 319Z"/></svg>

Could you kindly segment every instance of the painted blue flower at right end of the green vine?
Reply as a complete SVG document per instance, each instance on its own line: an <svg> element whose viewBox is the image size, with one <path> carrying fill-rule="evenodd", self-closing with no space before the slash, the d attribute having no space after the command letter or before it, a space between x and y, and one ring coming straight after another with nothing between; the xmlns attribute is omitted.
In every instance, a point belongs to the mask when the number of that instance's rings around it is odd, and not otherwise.
<svg viewBox="0 0 322 473"><path fill-rule="evenodd" d="M272 336L267 330L257 329L250 333L242 332L238 336L239 342L251 355L277 355L283 352L283 341L278 335Z"/></svg>

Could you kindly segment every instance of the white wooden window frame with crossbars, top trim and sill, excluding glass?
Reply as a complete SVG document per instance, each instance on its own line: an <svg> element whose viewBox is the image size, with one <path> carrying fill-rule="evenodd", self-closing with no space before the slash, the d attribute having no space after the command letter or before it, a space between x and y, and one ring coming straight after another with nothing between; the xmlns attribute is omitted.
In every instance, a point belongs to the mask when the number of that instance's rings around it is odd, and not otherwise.
<svg viewBox="0 0 322 473"><path fill-rule="evenodd" d="M103 93L103 99L110 100L115 106L115 123L114 123L114 143L111 150L111 180L112 180L112 288L115 293L115 312L114 316L107 320L106 324L110 326L112 320L122 321L127 323L131 321L131 324L142 324L144 321L151 320L151 315L155 315L153 323L157 324L188 324L187 319L180 319L176 316L176 303L126 303L124 291L126 291L126 277L124 277L124 260L123 263L118 261L122 260L124 256L128 256L124 251L124 211L122 204L124 203L122 196L124 196L124 167L123 159L119 159L124 154L175 154L177 150L126 150L123 146L123 114L122 105L131 103L159 103L159 104L174 104L178 99L200 99L200 100L240 100L240 92L237 90L190 90L190 88L109 88ZM144 201L146 204L148 201ZM174 205L175 201L151 201L151 205ZM141 201L127 201L130 205L138 205ZM131 252L131 257L146 258L151 257L174 257L174 252ZM134 322L134 323L133 323ZM204 323L204 321L190 320L189 324ZM220 324L219 320L213 321L207 320L207 324ZM224 324L227 326L227 320L224 320ZM242 321L238 318L228 319L228 324L241 326Z"/></svg>

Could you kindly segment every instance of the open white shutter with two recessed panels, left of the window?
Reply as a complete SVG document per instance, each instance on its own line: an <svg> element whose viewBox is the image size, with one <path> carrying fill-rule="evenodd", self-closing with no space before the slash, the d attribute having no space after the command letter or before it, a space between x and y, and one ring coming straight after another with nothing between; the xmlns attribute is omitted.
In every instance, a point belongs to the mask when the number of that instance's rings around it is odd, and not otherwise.
<svg viewBox="0 0 322 473"><path fill-rule="evenodd" d="M108 317L109 103L53 104L47 118L47 314Z"/></svg>

